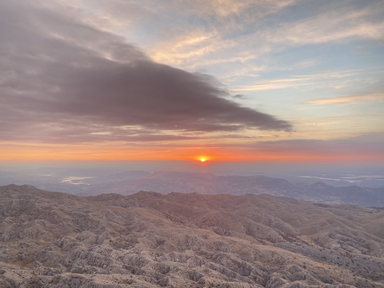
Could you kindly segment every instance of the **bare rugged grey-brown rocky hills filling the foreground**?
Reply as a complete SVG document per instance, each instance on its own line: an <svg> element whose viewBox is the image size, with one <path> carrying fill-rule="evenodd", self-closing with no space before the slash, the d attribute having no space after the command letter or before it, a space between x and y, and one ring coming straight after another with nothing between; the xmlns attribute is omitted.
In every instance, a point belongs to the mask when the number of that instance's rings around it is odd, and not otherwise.
<svg viewBox="0 0 384 288"><path fill-rule="evenodd" d="M0 187L0 287L384 287L384 211Z"/></svg>

